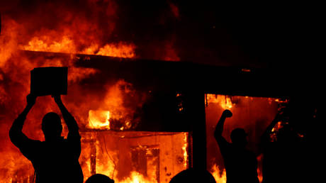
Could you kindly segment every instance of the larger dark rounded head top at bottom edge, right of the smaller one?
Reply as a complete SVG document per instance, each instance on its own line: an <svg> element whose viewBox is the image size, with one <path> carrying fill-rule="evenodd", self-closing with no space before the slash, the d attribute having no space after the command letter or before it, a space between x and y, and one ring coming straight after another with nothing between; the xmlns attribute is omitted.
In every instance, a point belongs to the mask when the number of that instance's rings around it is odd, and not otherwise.
<svg viewBox="0 0 326 183"><path fill-rule="evenodd" d="M189 168L176 174L169 183L183 182L215 183L215 179L207 170L196 170Z"/></svg>

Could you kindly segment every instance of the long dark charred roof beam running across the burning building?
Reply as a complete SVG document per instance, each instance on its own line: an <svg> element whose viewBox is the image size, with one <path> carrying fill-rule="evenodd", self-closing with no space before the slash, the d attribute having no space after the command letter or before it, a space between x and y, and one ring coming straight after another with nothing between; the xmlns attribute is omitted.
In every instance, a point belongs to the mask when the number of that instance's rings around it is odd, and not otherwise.
<svg viewBox="0 0 326 183"><path fill-rule="evenodd" d="M243 68L193 62L142 60L101 55L21 51L30 58L74 60L75 67L100 70L94 80L125 79L158 91L203 91L208 94L282 98L296 94L303 81L288 68ZM308 77L307 77L308 78ZM309 91L309 90L308 90Z"/></svg>

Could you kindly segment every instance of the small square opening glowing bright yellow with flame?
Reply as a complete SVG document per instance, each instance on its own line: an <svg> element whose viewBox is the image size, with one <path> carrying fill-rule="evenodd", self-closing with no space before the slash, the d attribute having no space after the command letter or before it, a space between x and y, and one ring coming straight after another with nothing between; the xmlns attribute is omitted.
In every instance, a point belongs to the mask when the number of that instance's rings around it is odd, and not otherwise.
<svg viewBox="0 0 326 183"><path fill-rule="evenodd" d="M89 110L89 127L110 129L110 111Z"/></svg>

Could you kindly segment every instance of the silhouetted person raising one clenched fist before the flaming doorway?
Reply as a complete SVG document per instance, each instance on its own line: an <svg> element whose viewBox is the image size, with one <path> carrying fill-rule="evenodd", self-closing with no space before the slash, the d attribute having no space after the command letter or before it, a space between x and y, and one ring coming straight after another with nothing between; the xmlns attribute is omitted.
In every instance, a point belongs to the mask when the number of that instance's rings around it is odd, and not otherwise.
<svg viewBox="0 0 326 183"><path fill-rule="evenodd" d="M254 153L245 148L247 145L245 130L235 128L231 132L232 143L228 143L222 136L225 119L230 117L232 117L231 111L223 111L214 133L224 159L227 183L258 183L257 159Z"/></svg>

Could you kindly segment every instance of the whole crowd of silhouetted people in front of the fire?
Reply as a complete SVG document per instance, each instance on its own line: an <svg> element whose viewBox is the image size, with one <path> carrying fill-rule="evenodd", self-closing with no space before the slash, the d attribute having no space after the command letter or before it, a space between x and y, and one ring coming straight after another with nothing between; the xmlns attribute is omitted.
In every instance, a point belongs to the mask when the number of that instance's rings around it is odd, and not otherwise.
<svg viewBox="0 0 326 183"><path fill-rule="evenodd" d="M36 100L36 96L31 94L27 96L26 108L13 121L9 137L11 142L21 150L21 153L32 162L36 183L81 183L84 181L84 176L78 161L81 153L81 136L77 121L65 108L60 95L53 96L53 98L67 124L69 130L67 139L61 137L61 118L53 112L47 113L43 117L44 142L32 140L22 132L26 116ZM235 128L230 135L232 143L227 142L222 135L224 123L227 118L231 117L231 111L223 111L214 132L215 140L223 156L227 183L259 183L257 158L246 148L247 133L245 130ZM276 136L272 137L276 131L276 123L280 123L283 118L283 113L277 114L262 135L264 183L306 181L304 174L306 173L305 167L308 165L306 162L308 150L304 138L300 137L289 123L283 123L282 128L277 129ZM94 174L86 180L86 183L101 182L114 181L104 174ZM170 181L170 183L178 182L215 182L215 179L207 170L189 168L176 174Z"/></svg>

